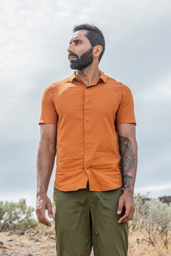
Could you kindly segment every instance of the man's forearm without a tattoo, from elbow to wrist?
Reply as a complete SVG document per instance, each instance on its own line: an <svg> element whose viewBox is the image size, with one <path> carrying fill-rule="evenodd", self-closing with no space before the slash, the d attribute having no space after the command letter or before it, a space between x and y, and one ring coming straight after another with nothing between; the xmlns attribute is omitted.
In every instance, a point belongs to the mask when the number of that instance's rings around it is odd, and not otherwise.
<svg viewBox="0 0 171 256"><path fill-rule="evenodd" d="M47 193L50 177L52 175L56 148L39 143L37 152L37 193Z"/></svg>

